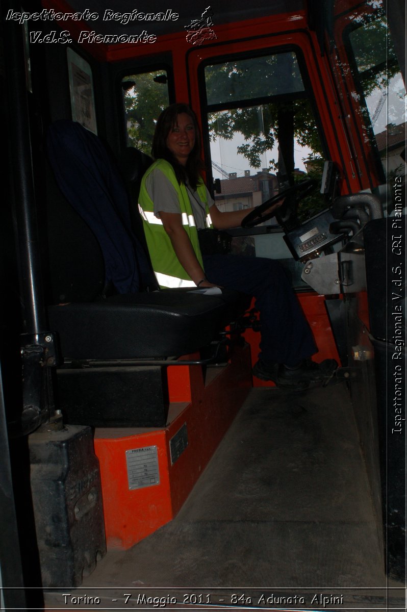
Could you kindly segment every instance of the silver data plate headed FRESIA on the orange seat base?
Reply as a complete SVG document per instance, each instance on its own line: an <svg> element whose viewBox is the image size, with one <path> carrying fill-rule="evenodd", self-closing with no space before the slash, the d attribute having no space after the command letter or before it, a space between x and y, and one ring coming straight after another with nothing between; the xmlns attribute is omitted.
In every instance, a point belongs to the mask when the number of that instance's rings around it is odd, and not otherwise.
<svg viewBox="0 0 407 612"><path fill-rule="evenodd" d="M126 463L130 490L152 487L160 483L157 446L126 450Z"/></svg>

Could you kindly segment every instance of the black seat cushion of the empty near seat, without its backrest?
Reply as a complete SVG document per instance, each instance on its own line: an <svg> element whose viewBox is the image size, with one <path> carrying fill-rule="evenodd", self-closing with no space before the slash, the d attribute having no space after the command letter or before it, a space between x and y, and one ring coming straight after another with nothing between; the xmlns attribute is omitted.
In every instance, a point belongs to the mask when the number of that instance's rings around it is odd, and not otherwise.
<svg viewBox="0 0 407 612"><path fill-rule="evenodd" d="M62 356L70 359L148 359L193 353L230 319L241 296L154 291L100 302L48 307Z"/></svg>

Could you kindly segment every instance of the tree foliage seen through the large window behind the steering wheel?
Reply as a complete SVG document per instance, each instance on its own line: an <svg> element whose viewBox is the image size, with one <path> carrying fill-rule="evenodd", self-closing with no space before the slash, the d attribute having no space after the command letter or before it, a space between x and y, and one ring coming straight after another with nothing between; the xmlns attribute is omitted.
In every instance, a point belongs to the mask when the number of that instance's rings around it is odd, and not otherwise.
<svg viewBox="0 0 407 612"><path fill-rule="evenodd" d="M205 70L207 101L209 105L247 100L244 108L215 111L209 114L212 140L231 140L241 133L244 144L237 147L252 168L260 168L261 155L271 151L278 142L278 116L282 111L294 114L294 137L297 143L321 152L315 119L306 99L304 84L294 53L226 62L209 66ZM275 101L263 105L250 104L250 100L274 97ZM277 163L271 160L272 170Z"/></svg>

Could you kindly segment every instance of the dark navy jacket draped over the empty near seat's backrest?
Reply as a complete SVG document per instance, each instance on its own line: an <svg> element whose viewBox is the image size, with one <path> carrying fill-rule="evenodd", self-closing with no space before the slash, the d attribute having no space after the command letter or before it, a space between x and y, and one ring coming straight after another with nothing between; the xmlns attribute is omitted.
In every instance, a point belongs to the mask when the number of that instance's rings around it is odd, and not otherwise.
<svg viewBox="0 0 407 612"><path fill-rule="evenodd" d="M77 122L56 121L48 130L48 157L59 189L79 215L71 214L67 223L65 230L73 234L71 252L61 253L59 261L63 261L67 269L71 266L75 238L84 238L83 228L80 230L80 221L83 220L103 255L105 278L100 279L100 266L95 269L98 278L92 276L92 269L88 271L94 289L99 288L98 294L102 293L101 286L113 286L115 293L122 294L137 293L155 286L147 253L132 231L124 181L105 144ZM48 230L50 232L52 228ZM86 245L89 256L85 250L85 259L81 262L84 267L94 265L95 244L89 242L91 244ZM75 270L72 275L75 277ZM69 274L65 276L69 277ZM75 300L75 295L69 293L69 287L67 289L65 299ZM62 293L65 295L67 292Z"/></svg>

